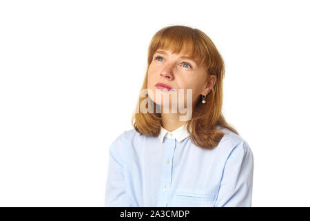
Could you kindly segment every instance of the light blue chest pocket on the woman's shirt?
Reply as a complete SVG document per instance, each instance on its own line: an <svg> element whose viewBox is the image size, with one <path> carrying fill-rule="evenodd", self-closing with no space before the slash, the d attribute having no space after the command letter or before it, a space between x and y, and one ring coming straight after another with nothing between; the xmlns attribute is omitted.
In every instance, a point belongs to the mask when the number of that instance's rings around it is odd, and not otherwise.
<svg viewBox="0 0 310 221"><path fill-rule="evenodd" d="M213 207L216 195L214 193L189 193L178 191L172 198L170 206L176 207Z"/></svg>

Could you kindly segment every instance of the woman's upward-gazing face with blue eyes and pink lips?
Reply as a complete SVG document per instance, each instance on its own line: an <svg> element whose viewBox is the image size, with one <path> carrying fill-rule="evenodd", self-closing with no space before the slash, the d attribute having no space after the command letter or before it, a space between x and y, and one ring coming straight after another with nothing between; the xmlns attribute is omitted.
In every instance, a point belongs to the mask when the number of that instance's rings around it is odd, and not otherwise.
<svg viewBox="0 0 310 221"><path fill-rule="evenodd" d="M176 94L178 103L184 100L183 104L180 105L186 108L190 102L194 107L200 95L209 93L211 88L206 88L207 70L202 66L198 66L194 60L183 56L185 56L183 53L172 54L170 50L163 49L154 52L147 73L147 91L150 92L149 97L154 103L171 107L172 104L175 104L172 95ZM156 87L158 83L167 84L173 90L161 90L161 88ZM184 89L184 92L178 89ZM187 89L192 89L192 95ZM156 96L156 92L159 92L159 96ZM183 93L184 99L180 100L179 93ZM169 103L164 103L163 97L167 94Z"/></svg>

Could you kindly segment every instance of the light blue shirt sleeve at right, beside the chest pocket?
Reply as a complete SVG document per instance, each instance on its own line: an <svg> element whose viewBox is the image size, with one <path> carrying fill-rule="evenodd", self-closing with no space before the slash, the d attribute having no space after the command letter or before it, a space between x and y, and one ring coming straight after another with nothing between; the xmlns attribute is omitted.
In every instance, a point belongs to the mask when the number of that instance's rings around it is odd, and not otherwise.
<svg viewBox="0 0 310 221"><path fill-rule="evenodd" d="M227 158L214 206L251 207L253 172L253 153L242 141Z"/></svg>

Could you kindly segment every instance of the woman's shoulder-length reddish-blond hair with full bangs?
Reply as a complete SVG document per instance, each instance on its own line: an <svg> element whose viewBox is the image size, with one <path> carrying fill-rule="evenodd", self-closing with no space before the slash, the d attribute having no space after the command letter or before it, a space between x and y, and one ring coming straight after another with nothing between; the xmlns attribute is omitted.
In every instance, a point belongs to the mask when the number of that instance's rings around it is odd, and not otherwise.
<svg viewBox="0 0 310 221"><path fill-rule="evenodd" d="M187 121L187 131L192 142L201 148L216 147L225 135L225 132L216 128L217 126L227 128L238 135L236 129L226 122L222 113L225 65L211 39L201 30L187 26L167 26L158 30L149 44L147 70L141 90L147 89L149 65L158 48L172 50L173 53L185 50L189 57L195 58L199 65L206 68L207 75L216 75L216 84L205 97L206 104L201 103L200 96L193 108L192 118ZM141 106L143 99L145 98L139 96L136 108ZM132 126L141 135L157 137L161 132L161 125L161 113L156 111L153 113L138 111L132 116Z"/></svg>

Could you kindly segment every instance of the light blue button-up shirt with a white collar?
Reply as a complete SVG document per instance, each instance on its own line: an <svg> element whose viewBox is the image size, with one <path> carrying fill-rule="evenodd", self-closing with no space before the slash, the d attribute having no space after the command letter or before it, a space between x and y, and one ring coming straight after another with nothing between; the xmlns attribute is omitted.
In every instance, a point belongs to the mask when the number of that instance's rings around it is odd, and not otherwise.
<svg viewBox="0 0 310 221"><path fill-rule="evenodd" d="M110 145L105 206L251 206L254 157L226 128L209 150L186 125L158 137L124 131ZM218 127L219 128L219 127Z"/></svg>

